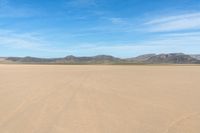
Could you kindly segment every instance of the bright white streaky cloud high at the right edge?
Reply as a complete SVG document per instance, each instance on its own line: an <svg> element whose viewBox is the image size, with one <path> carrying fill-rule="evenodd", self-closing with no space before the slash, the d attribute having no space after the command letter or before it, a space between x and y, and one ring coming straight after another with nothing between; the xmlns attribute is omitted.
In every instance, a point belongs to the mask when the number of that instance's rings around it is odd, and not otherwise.
<svg viewBox="0 0 200 133"><path fill-rule="evenodd" d="M200 29L200 12L161 16L147 21L144 26L150 32L171 32Z"/></svg>

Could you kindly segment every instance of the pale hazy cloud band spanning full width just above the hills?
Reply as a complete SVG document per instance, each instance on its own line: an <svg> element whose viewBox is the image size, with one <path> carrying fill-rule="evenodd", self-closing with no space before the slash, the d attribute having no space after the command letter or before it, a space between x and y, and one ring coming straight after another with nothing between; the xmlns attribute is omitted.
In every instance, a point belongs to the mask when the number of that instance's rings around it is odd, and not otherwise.
<svg viewBox="0 0 200 133"><path fill-rule="evenodd" d="M132 57L144 53L168 53L168 52L200 52L200 32L170 33L152 36L151 39L135 42L77 42L70 46L54 45L41 38L38 33L18 33L10 30L0 30L0 46L17 50L31 50L44 52L47 55L87 56L96 54L111 54L119 57ZM125 52L122 52L125 51ZM37 54L33 55L37 56Z"/></svg>

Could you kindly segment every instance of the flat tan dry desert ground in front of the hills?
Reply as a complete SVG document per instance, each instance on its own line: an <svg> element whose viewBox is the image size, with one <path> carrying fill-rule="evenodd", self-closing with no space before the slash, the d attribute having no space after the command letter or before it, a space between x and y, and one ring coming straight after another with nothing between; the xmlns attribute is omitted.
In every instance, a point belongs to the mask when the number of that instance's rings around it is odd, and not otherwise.
<svg viewBox="0 0 200 133"><path fill-rule="evenodd" d="M0 133L200 133L200 66L0 65Z"/></svg>

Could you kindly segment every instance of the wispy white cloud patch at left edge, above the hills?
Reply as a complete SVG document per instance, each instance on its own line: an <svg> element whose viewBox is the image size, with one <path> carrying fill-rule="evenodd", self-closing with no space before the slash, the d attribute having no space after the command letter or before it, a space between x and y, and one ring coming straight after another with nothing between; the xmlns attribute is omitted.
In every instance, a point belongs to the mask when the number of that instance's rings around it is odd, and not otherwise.
<svg viewBox="0 0 200 133"><path fill-rule="evenodd" d="M74 48L60 48L43 38L40 33L21 33L13 30L0 30L0 47L9 49L72 54ZM55 46L54 46L55 45ZM50 55L51 55L50 54ZM37 55L35 55L37 56Z"/></svg>

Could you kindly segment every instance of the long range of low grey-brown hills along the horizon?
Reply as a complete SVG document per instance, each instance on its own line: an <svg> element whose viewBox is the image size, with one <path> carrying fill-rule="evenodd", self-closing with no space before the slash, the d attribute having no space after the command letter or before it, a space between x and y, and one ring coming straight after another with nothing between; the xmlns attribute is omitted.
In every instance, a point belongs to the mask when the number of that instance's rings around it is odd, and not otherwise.
<svg viewBox="0 0 200 133"><path fill-rule="evenodd" d="M0 63L30 63L30 64L200 64L200 55L183 53L145 54L133 58L121 59L110 55L91 57L36 58L36 57L7 57L0 58Z"/></svg>

